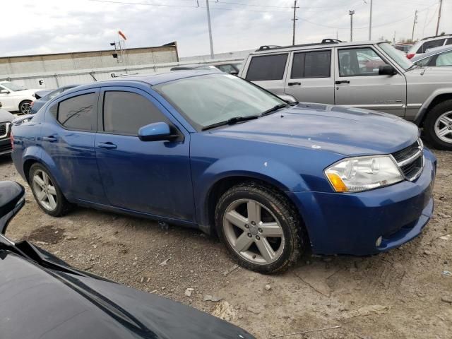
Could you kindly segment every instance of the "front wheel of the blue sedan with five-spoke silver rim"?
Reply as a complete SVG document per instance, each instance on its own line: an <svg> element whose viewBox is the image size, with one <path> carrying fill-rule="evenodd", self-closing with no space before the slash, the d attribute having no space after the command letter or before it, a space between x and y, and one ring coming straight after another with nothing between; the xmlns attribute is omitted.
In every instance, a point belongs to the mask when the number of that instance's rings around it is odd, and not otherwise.
<svg viewBox="0 0 452 339"><path fill-rule="evenodd" d="M282 272L304 251L297 210L283 194L255 182L233 186L221 196L215 227L239 265L258 273Z"/></svg>

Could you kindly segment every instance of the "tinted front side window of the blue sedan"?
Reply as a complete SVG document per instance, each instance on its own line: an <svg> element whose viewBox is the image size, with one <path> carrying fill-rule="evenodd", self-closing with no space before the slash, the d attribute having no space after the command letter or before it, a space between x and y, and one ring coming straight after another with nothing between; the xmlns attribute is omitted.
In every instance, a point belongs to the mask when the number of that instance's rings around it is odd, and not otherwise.
<svg viewBox="0 0 452 339"><path fill-rule="evenodd" d="M104 131L136 136L138 129L154 122L167 122L160 109L142 95L108 91L104 97Z"/></svg>

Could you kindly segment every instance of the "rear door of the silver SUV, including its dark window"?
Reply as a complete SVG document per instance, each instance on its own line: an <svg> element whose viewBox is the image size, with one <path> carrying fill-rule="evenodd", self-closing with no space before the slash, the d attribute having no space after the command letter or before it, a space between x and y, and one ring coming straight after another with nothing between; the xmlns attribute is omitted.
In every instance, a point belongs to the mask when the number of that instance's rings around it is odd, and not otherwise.
<svg viewBox="0 0 452 339"><path fill-rule="evenodd" d="M285 93L299 102L334 104L334 69L331 49L293 52Z"/></svg>

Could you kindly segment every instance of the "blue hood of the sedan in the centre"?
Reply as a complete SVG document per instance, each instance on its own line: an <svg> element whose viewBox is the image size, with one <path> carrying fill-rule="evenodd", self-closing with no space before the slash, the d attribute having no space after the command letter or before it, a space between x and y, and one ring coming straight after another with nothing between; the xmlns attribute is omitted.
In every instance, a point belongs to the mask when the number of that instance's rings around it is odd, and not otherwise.
<svg viewBox="0 0 452 339"><path fill-rule="evenodd" d="M393 153L419 136L415 124L392 114L311 103L209 132L348 156Z"/></svg>

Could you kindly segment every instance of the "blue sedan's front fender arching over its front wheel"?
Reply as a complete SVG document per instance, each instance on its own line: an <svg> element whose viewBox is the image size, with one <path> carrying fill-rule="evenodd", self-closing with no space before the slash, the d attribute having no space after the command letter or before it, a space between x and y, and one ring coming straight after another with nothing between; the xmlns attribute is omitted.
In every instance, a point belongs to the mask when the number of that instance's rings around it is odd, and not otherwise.
<svg viewBox="0 0 452 339"><path fill-rule="evenodd" d="M299 173L278 160L244 155L226 157L213 162L193 178L196 216L201 228L205 229L210 223L208 206L213 187L220 180L232 177L258 179L281 191L309 190Z"/></svg>

